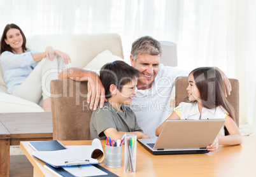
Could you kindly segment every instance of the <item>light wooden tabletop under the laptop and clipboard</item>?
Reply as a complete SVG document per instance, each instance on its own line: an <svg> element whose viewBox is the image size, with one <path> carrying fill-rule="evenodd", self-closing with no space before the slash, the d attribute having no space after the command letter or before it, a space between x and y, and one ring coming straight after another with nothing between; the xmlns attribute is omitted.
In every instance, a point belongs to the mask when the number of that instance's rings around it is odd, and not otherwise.
<svg viewBox="0 0 256 177"><path fill-rule="evenodd" d="M64 145L91 145L92 141L61 141ZM20 142L20 148L31 162L39 176L55 176L43 167L45 164L32 157L28 141ZM106 141L101 141L103 150ZM152 155L137 142L135 176L255 176L256 136L244 136L243 144L220 145L217 152L187 155ZM104 166L104 161L100 164ZM118 176L124 174L124 147L122 167L105 167Z"/></svg>

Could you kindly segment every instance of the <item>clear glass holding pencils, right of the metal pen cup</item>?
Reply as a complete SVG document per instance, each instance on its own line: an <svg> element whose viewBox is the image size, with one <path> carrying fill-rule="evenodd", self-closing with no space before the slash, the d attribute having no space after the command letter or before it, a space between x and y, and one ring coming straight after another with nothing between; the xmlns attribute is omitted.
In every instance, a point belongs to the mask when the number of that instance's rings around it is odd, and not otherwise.
<svg viewBox="0 0 256 177"><path fill-rule="evenodd" d="M127 134L125 136L124 173L135 173L136 147L137 147L137 136Z"/></svg>

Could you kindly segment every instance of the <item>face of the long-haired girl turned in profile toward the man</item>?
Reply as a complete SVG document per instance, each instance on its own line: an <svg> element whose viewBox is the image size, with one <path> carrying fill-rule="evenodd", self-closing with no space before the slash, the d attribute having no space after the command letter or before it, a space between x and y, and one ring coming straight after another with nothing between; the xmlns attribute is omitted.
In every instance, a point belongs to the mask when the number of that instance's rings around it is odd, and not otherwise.
<svg viewBox="0 0 256 177"><path fill-rule="evenodd" d="M200 101L201 100L199 90L196 87L196 82L195 82L193 73L189 74L189 76L188 76L187 91L188 91L188 100L189 101Z"/></svg>

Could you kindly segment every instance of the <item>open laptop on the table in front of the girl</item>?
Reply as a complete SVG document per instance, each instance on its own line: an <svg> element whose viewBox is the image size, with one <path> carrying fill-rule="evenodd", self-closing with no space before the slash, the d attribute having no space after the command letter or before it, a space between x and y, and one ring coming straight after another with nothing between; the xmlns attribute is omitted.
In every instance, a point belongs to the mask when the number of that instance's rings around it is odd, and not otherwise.
<svg viewBox="0 0 256 177"><path fill-rule="evenodd" d="M225 119L166 120L157 139L138 139L149 152L161 154L208 153Z"/></svg>

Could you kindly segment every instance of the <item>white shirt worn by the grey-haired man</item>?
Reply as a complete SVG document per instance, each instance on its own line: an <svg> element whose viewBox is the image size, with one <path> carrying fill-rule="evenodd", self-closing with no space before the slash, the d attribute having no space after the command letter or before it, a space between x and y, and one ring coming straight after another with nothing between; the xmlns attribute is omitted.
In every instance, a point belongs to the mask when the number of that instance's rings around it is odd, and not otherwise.
<svg viewBox="0 0 256 177"><path fill-rule="evenodd" d="M150 138L156 138L155 129L168 117L171 90L178 76L188 76L188 71L160 64L152 87L146 90L136 88L137 94L132 99L131 109L139 127Z"/></svg>

